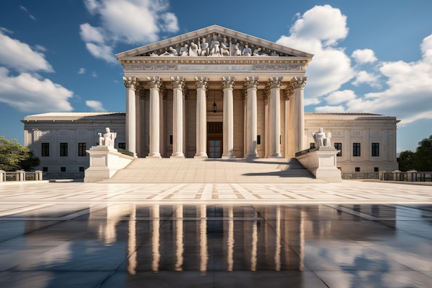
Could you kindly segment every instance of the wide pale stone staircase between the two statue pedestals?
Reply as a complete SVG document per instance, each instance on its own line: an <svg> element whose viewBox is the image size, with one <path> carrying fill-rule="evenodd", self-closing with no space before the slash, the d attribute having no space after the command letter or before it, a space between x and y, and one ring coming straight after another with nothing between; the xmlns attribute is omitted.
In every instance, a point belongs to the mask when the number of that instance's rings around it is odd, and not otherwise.
<svg viewBox="0 0 432 288"><path fill-rule="evenodd" d="M321 182L295 158L137 158L110 183L298 183Z"/></svg>

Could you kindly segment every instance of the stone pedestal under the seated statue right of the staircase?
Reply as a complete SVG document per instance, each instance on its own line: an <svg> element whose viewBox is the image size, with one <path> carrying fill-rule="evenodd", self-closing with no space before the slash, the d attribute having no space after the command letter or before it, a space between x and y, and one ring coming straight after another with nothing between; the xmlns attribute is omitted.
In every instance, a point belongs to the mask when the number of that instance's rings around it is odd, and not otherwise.
<svg viewBox="0 0 432 288"><path fill-rule="evenodd" d="M319 180L329 183L342 182L342 174L336 166L336 155L339 153L334 147L320 147L305 155L296 157L308 171Z"/></svg>

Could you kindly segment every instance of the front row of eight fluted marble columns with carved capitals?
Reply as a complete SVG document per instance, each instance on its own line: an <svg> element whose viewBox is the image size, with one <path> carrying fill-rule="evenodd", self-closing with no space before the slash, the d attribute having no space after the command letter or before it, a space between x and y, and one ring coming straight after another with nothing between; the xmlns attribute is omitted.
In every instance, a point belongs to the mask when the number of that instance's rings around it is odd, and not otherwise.
<svg viewBox="0 0 432 288"><path fill-rule="evenodd" d="M146 77L150 86L150 110L149 110L149 153L147 157L161 157L161 115L160 101L161 90L164 89L160 77ZM170 77L173 86L173 153L171 157L185 157L184 147L184 91L186 82L184 77ZM223 116L223 152L222 158L235 158L234 155L234 105L233 90L235 77L222 77L222 89L224 92L224 116ZM126 150L136 153L137 136L137 113L141 111L136 107L136 90L141 87L137 77L124 77L126 86ZM244 77L244 94L246 98L245 111L245 157L257 158L257 88L258 77ZM293 151L301 151L304 147L304 85L306 77L293 77L288 83L287 91L290 106L286 110L286 126L291 127ZM208 157L207 144L207 111L206 92L208 90L208 77L195 77L197 90L196 111L196 153L195 157ZM280 151L280 90L282 88L282 77L269 77L266 82L266 93L268 94L268 157L282 157ZM290 115L288 117L288 115ZM138 135L137 135L138 134ZM287 133L286 133L287 134Z"/></svg>

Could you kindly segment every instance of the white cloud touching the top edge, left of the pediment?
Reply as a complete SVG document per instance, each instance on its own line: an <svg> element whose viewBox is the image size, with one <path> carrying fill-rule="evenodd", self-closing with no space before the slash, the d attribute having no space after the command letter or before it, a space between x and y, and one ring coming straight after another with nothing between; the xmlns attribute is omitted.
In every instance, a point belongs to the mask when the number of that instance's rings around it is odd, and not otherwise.
<svg viewBox="0 0 432 288"><path fill-rule="evenodd" d="M99 15L101 24L99 27L81 24L81 39L90 54L108 62L115 62L112 49L118 42L144 45L157 41L161 31L179 30L177 17L167 12L167 0L85 0L84 3L90 14Z"/></svg>

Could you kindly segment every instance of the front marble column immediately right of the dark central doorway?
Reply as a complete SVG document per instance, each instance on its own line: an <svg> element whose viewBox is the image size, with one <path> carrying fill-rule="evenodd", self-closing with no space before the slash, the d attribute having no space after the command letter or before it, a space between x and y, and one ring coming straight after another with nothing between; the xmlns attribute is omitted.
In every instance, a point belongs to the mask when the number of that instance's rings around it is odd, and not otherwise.
<svg viewBox="0 0 432 288"><path fill-rule="evenodd" d="M224 88L224 152L222 158L235 158L234 156L234 77L222 77Z"/></svg>

